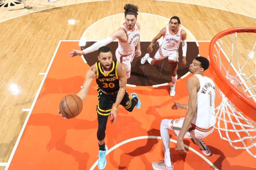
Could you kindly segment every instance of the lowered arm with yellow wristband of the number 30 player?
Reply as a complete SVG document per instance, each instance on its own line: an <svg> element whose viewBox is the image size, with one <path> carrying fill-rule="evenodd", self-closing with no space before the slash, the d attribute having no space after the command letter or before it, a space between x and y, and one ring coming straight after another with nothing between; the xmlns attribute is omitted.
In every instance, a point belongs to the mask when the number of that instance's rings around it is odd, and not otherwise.
<svg viewBox="0 0 256 170"><path fill-rule="evenodd" d="M125 87L126 87L126 83L127 83L127 78L126 78L125 67L122 63L118 63L117 77L119 79L119 87L120 88L119 88L119 91L117 93L115 105L112 108L112 110L110 111L109 119L111 119L112 115L114 115L114 119L111 120L111 123L116 122L117 108L118 108L119 104L121 103L122 99L124 98L124 94L125 94Z"/></svg>

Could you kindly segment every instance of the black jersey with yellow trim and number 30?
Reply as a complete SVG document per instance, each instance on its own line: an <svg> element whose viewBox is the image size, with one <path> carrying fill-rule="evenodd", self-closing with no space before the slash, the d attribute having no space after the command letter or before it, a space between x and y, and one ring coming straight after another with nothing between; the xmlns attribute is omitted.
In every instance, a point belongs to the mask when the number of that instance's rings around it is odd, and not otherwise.
<svg viewBox="0 0 256 170"><path fill-rule="evenodd" d="M119 91L119 79L117 76L117 61L112 61L112 68L108 73L104 73L101 69L100 62L96 62L96 83L100 90L105 94L113 94Z"/></svg>

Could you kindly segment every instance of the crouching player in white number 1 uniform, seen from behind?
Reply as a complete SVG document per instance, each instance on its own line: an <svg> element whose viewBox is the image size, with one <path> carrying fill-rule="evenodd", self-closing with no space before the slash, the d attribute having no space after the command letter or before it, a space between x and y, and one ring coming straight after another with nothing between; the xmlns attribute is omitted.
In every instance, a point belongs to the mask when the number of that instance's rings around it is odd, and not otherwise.
<svg viewBox="0 0 256 170"><path fill-rule="evenodd" d="M190 64L189 71L193 76L187 80L188 105L174 103L172 106L172 109L188 109L188 112L185 118L161 121L160 133L164 147L164 161L153 162L152 166L155 170L173 169L170 159L169 129L173 131L174 136L178 136L176 150L188 153L184 148L183 138L191 138L205 155L211 155L209 148L202 141L202 138L213 132L216 122L214 113L215 85L211 78L203 76L204 70L208 67L209 61L204 57L196 57Z"/></svg>

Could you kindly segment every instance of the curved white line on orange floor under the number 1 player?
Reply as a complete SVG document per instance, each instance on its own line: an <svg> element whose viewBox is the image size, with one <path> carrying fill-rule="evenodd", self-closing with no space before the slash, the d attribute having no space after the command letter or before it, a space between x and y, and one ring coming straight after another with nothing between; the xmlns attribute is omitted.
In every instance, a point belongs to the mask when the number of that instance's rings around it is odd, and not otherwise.
<svg viewBox="0 0 256 170"><path fill-rule="evenodd" d="M116 144L115 146L113 146L112 148L110 148L107 152L106 155L108 155L108 153L112 152L113 150L115 150L116 148L118 148L119 146L122 146L123 144L126 144L126 143L129 143L129 142L132 142L132 141L135 141L135 140L140 140L140 139L161 139L161 137L158 137L158 136L141 136L141 137L133 137L131 139L127 139L123 142L120 142L119 144ZM170 142L173 142L173 143L177 143L176 140L173 140L173 139L170 139ZM188 148L190 151L196 153L198 156L200 156L202 159L204 159L210 166L212 166L214 169L218 170L218 168L213 165L213 163L207 159L204 155L202 155L201 153L197 152L195 149L189 147L188 145L184 144L184 147L185 148ZM92 167L90 168L90 170L93 170L96 165L98 165L98 159L95 161L95 163L92 165Z"/></svg>

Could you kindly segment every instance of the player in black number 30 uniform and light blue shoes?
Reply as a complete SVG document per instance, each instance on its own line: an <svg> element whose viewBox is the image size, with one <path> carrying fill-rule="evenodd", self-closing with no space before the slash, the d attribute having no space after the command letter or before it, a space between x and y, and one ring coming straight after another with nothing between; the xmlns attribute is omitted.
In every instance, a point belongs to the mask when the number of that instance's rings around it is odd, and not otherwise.
<svg viewBox="0 0 256 170"><path fill-rule="evenodd" d="M112 60L112 52L107 46L100 47L98 50L98 62L89 68L86 73L83 88L77 95L84 100L92 83L96 78L98 84L98 131L97 138L99 141L99 160L98 167L103 169L106 166L106 152L108 150L105 145L105 130L108 121L114 118L111 123L115 123L117 117L117 109L121 104L127 111L132 112L136 106L140 108L140 100L136 93L132 93L131 97L125 90L126 87L126 71L122 63ZM115 103L114 107L113 104Z"/></svg>

